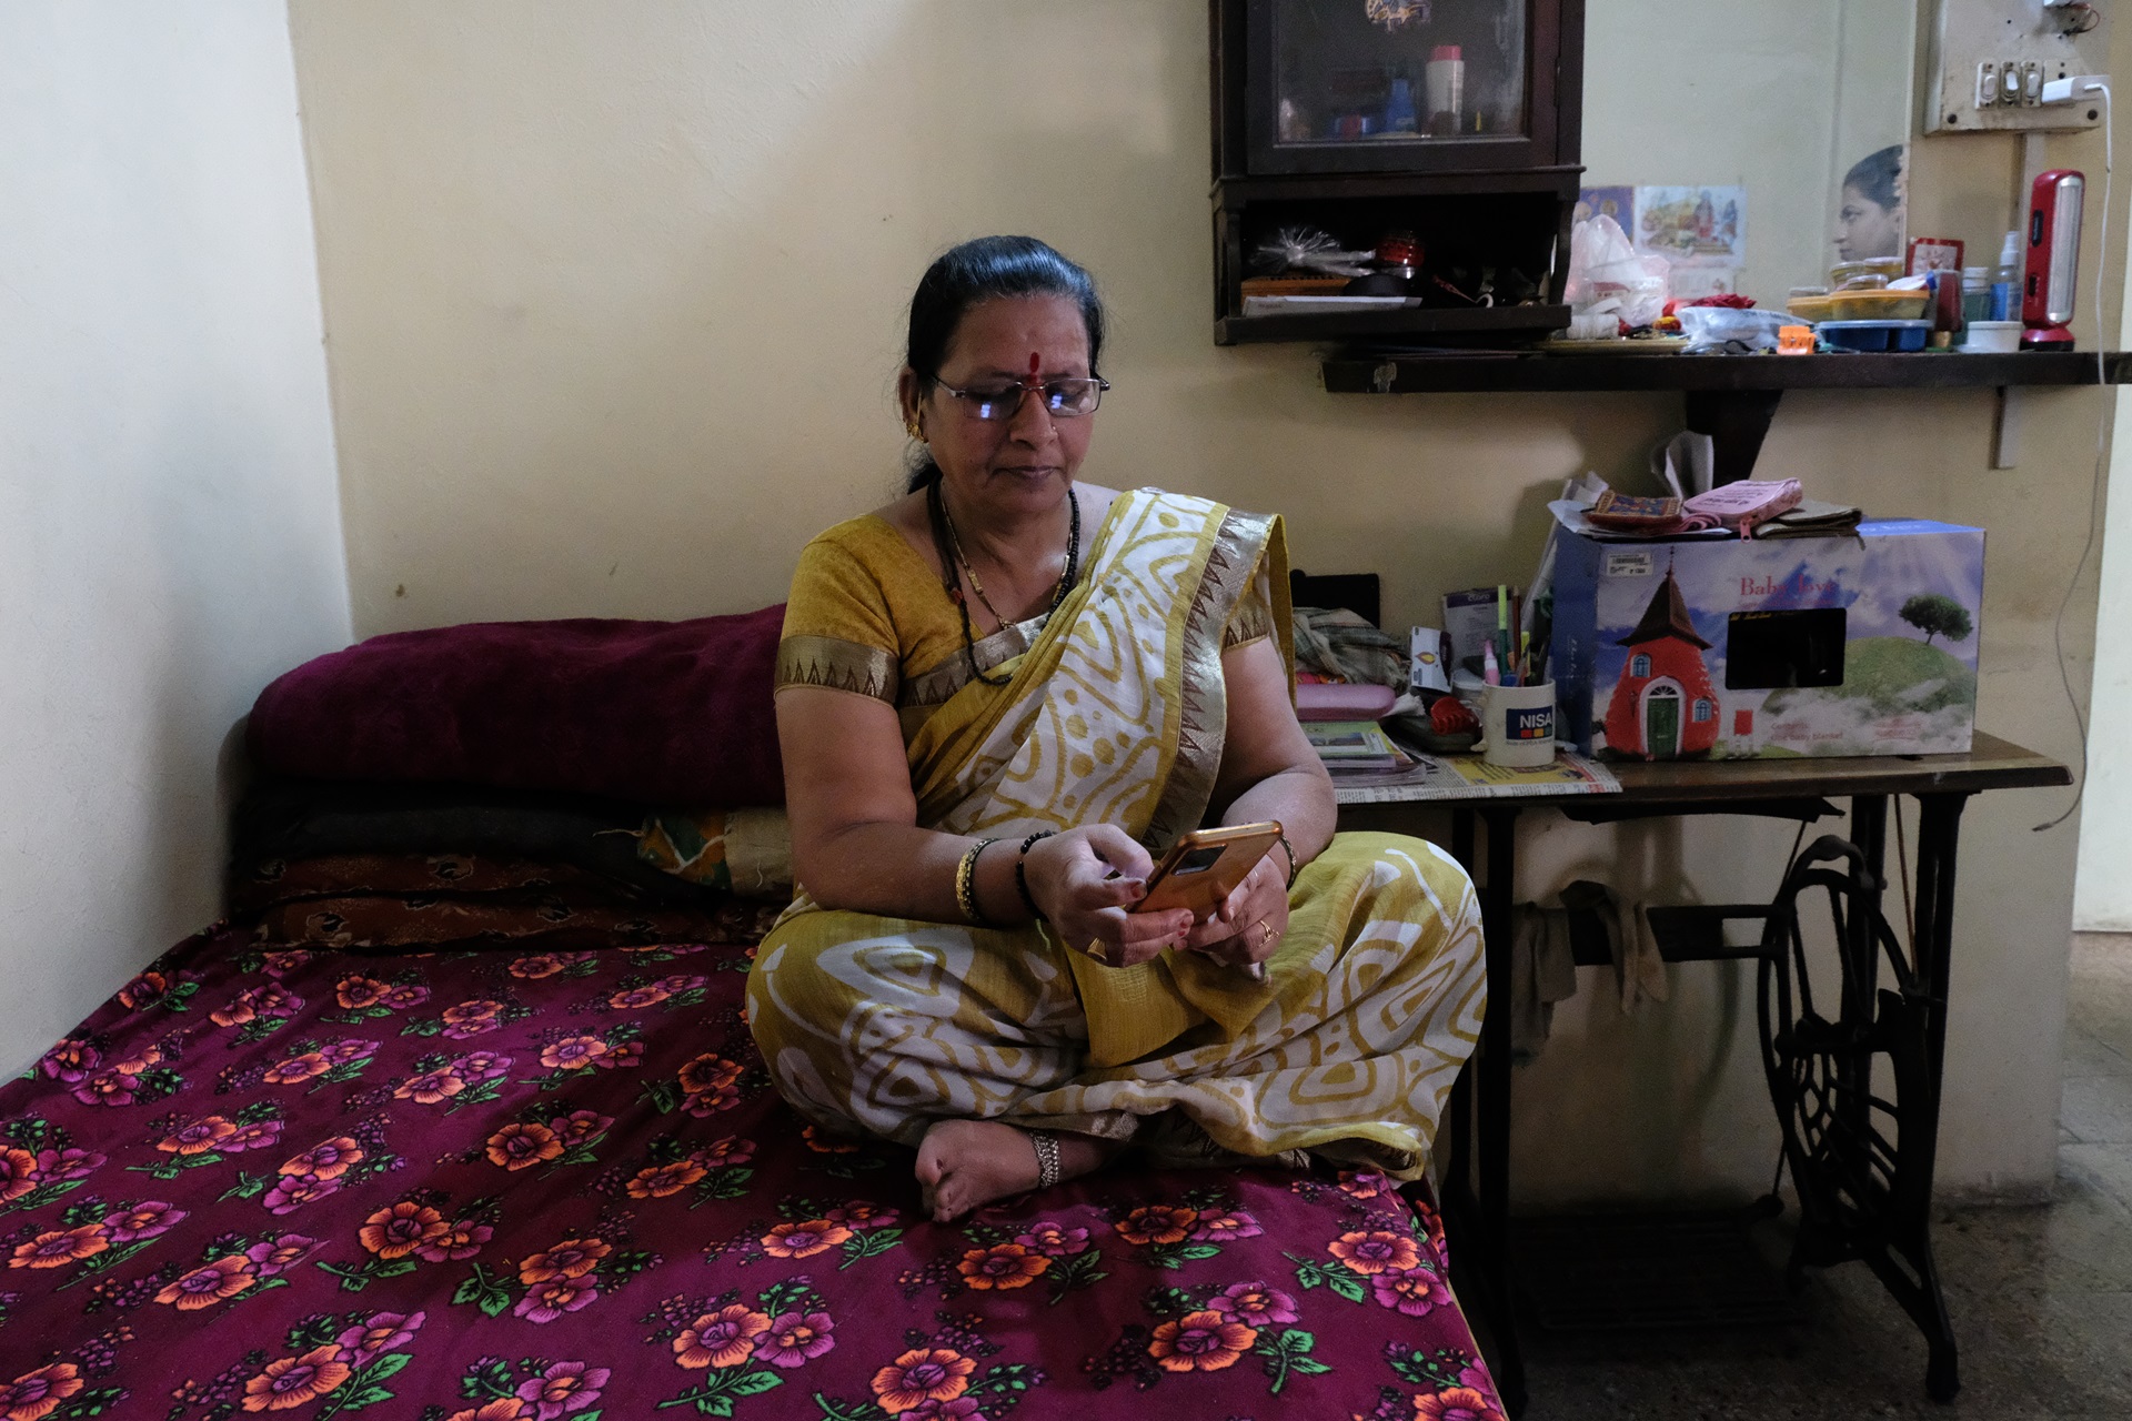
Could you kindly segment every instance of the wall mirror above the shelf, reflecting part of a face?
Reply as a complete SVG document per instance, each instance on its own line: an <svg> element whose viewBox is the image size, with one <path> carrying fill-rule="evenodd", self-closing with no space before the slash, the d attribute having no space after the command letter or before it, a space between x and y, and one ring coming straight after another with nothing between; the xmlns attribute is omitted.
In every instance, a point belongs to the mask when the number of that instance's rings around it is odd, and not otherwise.
<svg viewBox="0 0 2132 1421"><path fill-rule="evenodd" d="M1584 183L1676 294L1904 256L1915 0L1586 0Z"/></svg>

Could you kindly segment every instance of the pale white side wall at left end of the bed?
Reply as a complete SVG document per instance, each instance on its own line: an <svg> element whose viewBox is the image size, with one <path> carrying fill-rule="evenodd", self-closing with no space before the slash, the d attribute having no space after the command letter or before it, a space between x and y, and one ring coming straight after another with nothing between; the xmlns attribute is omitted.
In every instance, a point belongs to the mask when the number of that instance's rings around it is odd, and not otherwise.
<svg viewBox="0 0 2132 1421"><path fill-rule="evenodd" d="M348 637L288 13L0 6L0 1069L220 912L232 722Z"/></svg>

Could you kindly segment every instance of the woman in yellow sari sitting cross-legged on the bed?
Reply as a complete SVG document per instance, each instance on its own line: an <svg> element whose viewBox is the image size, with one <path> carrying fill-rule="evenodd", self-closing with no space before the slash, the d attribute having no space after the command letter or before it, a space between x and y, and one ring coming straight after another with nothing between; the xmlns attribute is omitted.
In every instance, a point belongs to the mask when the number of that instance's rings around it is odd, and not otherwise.
<svg viewBox="0 0 2132 1421"><path fill-rule="evenodd" d="M1418 839L1332 833L1279 520L1077 484L1100 352L1087 273L1038 241L919 283L923 462L793 577L800 895L748 1023L804 1116L917 1148L942 1221L1124 1146L1416 1178L1480 1031L1473 888ZM1132 912L1153 852L1256 820L1286 842L1205 920Z"/></svg>

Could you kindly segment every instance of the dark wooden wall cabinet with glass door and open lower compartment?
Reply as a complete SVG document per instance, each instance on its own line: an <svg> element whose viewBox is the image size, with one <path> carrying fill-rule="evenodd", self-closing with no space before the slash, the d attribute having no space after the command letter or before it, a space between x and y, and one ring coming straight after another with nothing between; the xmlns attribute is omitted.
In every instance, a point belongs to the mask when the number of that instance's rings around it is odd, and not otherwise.
<svg viewBox="0 0 2132 1421"><path fill-rule="evenodd" d="M1211 0L1215 341L1501 343L1569 324L1582 0ZM1527 303L1245 315L1283 226L1373 247L1414 232L1424 271L1492 268Z"/></svg>

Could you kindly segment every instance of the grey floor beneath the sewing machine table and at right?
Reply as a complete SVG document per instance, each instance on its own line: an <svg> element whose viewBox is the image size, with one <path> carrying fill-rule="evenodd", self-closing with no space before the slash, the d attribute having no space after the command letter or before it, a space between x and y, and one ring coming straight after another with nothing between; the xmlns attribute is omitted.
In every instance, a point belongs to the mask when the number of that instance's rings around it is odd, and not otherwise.
<svg viewBox="0 0 2132 1421"><path fill-rule="evenodd" d="M1859 1263L1812 1272L1778 1334L1531 1338L1524 1421L1838 1417L2132 1419L2132 935L2081 933L2047 1206L1961 1208L1934 1229L1961 1395L1925 1398L1925 1346Z"/></svg>

